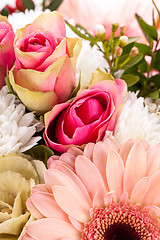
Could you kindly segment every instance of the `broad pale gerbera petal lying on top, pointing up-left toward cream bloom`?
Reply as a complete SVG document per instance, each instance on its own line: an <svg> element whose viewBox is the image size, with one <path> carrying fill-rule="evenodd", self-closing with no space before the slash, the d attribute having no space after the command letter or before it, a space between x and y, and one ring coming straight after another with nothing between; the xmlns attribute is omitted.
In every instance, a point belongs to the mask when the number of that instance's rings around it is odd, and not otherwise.
<svg viewBox="0 0 160 240"><path fill-rule="evenodd" d="M61 186L54 186L52 190L56 202L64 212L82 223L89 220L90 206L83 195L80 196L70 189Z"/></svg>

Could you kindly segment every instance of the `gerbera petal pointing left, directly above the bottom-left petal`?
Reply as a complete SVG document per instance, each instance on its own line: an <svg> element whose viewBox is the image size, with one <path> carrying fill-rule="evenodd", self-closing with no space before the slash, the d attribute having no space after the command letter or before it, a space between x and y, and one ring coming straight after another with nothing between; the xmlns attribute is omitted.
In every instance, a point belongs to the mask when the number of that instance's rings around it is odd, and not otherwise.
<svg viewBox="0 0 160 240"><path fill-rule="evenodd" d="M44 217L52 217L63 221L67 220L67 215L59 208L53 194L35 193L31 195L30 199Z"/></svg>

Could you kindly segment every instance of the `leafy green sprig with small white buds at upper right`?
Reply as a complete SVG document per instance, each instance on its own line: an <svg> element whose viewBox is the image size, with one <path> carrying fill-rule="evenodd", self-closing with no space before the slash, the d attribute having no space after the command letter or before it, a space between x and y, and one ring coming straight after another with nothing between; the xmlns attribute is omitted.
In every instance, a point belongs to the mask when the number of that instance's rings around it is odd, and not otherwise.
<svg viewBox="0 0 160 240"><path fill-rule="evenodd" d="M152 2L160 17L160 11L154 0ZM153 25L146 23L138 14L136 14L136 18L147 41L140 43L140 38L129 37L124 46L120 43L120 41L122 43L125 41L123 34L115 37L117 28L114 29L113 26L110 38L106 40L104 36L102 38L98 34L92 36L80 25L72 26L70 23L66 23L79 37L89 41L91 47L97 46L98 50L103 53L108 73L112 74L114 78L118 74L118 77L126 81L129 90L139 91L139 96L156 99L160 97L160 38L155 27L156 21L154 15ZM136 42L137 40L139 42Z"/></svg>

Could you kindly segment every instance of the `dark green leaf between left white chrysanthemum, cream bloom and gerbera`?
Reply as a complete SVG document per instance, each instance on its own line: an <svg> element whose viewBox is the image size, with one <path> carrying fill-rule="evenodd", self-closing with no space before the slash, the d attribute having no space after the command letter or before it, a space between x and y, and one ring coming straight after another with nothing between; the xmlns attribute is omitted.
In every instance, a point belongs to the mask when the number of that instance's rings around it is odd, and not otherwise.
<svg viewBox="0 0 160 240"><path fill-rule="evenodd" d="M44 162L45 165L47 165L48 158L54 155L53 151L45 145L35 146L24 153Z"/></svg>

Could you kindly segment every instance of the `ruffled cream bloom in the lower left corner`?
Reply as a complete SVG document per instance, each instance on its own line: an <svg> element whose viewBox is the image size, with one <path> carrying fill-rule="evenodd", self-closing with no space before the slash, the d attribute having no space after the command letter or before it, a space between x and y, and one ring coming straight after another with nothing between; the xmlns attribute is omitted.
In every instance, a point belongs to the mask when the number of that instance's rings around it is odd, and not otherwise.
<svg viewBox="0 0 160 240"><path fill-rule="evenodd" d="M43 183L46 170L39 160L24 154L0 157L0 239L20 239L32 221L26 200L35 184Z"/></svg>

